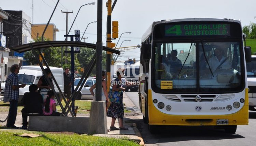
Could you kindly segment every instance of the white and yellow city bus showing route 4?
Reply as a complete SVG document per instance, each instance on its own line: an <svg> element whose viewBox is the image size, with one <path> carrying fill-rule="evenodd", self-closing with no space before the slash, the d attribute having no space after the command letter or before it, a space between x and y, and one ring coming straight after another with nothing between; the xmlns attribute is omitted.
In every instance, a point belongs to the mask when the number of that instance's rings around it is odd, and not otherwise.
<svg viewBox="0 0 256 146"><path fill-rule="evenodd" d="M143 121L152 133L158 125L216 126L235 133L237 125L248 124L245 62L250 61L239 20L153 22L141 43Z"/></svg>

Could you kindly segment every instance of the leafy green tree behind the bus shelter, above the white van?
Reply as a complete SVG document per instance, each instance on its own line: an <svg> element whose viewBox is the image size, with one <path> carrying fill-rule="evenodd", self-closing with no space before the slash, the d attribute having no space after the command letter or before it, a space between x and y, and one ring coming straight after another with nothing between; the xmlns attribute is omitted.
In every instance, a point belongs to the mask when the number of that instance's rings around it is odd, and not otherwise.
<svg viewBox="0 0 256 146"><path fill-rule="evenodd" d="M50 39L44 39L44 41L49 41ZM41 42L41 37L38 37L34 39L34 42ZM68 48L70 51L70 48ZM36 52L39 54L38 50ZM44 58L47 61L49 66L52 67L61 67L61 47L53 47L53 48L45 48L44 49ZM74 55L74 61L75 61L75 69L80 68L79 61L77 59L77 54ZM68 63L64 64L62 68L70 68L71 67L71 58L70 53L68 53L67 57L63 56L62 60L65 60L67 58ZM33 55L32 51L25 52L24 59L29 63L29 65L38 65L38 61L35 59L35 56Z"/></svg>

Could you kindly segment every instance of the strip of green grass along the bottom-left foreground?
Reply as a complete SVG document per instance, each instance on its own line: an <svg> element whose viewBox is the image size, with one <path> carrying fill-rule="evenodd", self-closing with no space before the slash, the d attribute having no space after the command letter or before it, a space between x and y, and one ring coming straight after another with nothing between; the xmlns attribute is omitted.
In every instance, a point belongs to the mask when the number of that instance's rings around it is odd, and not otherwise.
<svg viewBox="0 0 256 146"><path fill-rule="evenodd" d="M23 133L31 133L30 131ZM42 136L35 138L26 138L14 134L23 134L21 132L0 131L0 145L5 146L139 146L138 144L122 139L103 138L98 136L89 136L85 134L53 134L47 132L33 132Z"/></svg>

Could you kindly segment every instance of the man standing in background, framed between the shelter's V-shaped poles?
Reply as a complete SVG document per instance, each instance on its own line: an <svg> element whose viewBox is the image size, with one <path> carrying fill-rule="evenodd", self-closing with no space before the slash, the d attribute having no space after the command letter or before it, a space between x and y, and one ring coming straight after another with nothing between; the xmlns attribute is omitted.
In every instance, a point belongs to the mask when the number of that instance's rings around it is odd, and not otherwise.
<svg viewBox="0 0 256 146"><path fill-rule="evenodd" d="M64 96L69 101L71 95L71 74L69 73L69 68L65 68L64 76Z"/></svg>

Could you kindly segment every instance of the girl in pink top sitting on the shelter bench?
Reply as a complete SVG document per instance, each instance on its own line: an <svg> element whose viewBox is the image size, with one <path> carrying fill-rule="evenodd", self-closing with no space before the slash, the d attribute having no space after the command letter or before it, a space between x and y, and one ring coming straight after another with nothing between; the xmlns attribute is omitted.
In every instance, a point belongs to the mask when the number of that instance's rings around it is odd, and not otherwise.
<svg viewBox="0 0 256 146"><path fill-rule="evenodd" d="M49 116L60 116L60 112L56 112L55 96L52 90L47 92L47 98L43 106L43 114Z"/></svg>

